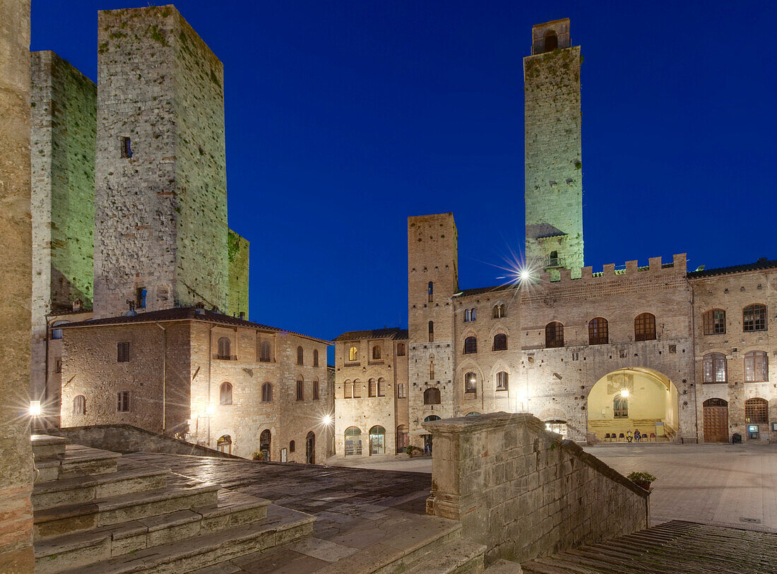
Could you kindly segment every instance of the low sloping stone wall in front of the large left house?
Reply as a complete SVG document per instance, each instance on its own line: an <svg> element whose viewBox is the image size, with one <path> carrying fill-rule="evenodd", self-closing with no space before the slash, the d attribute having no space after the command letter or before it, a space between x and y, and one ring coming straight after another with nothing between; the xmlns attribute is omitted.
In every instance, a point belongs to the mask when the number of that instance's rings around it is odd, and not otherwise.
<svg viewBox="0 0 777 574"><path fill-rule="evenodd" d="M193 454L200 457L239 458L234 454L214 451L159 433L152 433L131 425L69 426L53 431L56 437L65 437L71 444L101 448L114 452L160 452Z"/></svg>

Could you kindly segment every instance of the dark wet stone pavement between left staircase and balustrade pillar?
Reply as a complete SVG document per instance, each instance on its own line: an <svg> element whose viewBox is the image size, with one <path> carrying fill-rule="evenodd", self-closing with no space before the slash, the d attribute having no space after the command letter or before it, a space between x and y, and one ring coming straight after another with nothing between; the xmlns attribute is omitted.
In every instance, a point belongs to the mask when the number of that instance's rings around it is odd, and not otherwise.
<svg viewBox="0 0 777 574"><path fill-rule="evenodd" d="M431 475L292 463L230 461L179 454L125 454L224 489L260 496L316 517L305 541L235 558L201 574L315 572L414 527L432 527L425 514ZM197 571L200 574L200 571Z"/></svg>

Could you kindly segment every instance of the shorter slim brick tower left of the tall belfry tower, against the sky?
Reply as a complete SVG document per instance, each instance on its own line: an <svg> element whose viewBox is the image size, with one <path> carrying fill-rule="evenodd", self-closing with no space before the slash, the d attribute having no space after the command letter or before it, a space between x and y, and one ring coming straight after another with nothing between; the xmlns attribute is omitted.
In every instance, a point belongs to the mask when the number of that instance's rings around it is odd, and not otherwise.
<svg viewBox="0 0 777 574"><path fill-rule="evenodd" d="M411 444L423 447L428 416L455 416L454 315L458 292L458 233L453 214L407 218L408 405ZM440 402L424 404L430 388ZM436 391L431 391L433 398Z"/></svg>

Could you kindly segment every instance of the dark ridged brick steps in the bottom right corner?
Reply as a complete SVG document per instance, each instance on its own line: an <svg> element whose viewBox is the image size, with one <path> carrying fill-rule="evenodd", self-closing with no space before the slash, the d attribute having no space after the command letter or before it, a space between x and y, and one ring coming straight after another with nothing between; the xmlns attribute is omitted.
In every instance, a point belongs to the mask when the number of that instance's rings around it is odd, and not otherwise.
<svg viewBox="0 0 777 574"><path fill-rule="evenodd" d="M672 520L521 566L524 574L773 574L777 533Z"/></svg>

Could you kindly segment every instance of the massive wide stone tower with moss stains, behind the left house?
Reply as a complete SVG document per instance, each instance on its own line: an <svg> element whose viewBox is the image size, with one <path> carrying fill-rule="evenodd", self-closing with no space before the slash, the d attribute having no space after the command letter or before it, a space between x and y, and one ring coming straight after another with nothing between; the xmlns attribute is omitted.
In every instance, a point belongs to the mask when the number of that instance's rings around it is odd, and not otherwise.
<svg viewBox="0 0 777 574"><path fill-rule="evenodd" d="M95 317L138 289L148 311L227 310L222 64L172 6L98 26Z"/></svg>

